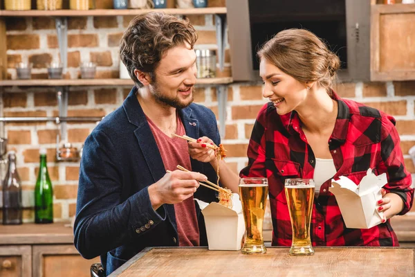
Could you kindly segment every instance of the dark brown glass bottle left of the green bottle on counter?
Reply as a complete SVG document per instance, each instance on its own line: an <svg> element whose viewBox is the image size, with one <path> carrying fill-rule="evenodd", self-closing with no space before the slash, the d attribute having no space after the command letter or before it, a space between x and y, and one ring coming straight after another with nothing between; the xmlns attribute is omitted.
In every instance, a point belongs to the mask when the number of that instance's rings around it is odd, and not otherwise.
<svg viewBox="0 0 415 277"><path fill-rule="evenodd" d="M8 170L3 181L3 224L21 224L21 181L16 170L16 153L8 153Z"/></svg>

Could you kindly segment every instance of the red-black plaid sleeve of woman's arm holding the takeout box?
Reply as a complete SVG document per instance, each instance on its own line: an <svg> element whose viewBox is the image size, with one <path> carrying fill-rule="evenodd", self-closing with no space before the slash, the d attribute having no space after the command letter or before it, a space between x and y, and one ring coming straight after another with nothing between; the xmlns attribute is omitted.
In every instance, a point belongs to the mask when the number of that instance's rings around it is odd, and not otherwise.
<svg viewBox="0 0 415 277"><path fill-rule="evenodd" d="M404 166L399 134L394 122L391 116L382 116L378 174L386 172L389 182L384 188L387 193L396 193L402 198L404 207L398 215L404 215L412 207L414 188L411 188L412 177Z"/></svg>

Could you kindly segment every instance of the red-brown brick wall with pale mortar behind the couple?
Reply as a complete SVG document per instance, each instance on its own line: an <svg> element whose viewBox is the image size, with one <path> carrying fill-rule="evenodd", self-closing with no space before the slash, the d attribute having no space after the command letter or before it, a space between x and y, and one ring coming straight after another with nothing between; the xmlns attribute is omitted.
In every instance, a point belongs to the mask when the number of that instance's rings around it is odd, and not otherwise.
<svg viewBox="0 0 415 277"><path fill-rule="evenodd" d="M77 78L80 62L98 63L98 78L118 78L118 41L131 17L88 17L68 21L68 72L66 78ZM216 48L214 19L210 15L190 17L199 31L196 47ZM34 64L33 78L46 78L46 64L59 57L54 22L48 18L8 19L8 74L15 78L15 62ZM228 53L228 51L227 51ZM230 57L226 70L230 75ZM129 87L71 87L68 116L104 116L122 104ZM336 90L340 96L365 102L395 116L405 164L415 173L407 152L415 145L415 82L347 83ZM196 102L210 107L218 115L214 86L196 89ZM241 83L228 86L226 134L223 143L228 150L226 161L235 171L246 165L246 148L259 108L266 103L261 84ZM53 89L28 87L19 93L3 93L3 116L55 116L57 100ZM95 127L95 123L68 124L68 141L77 148ZM17 150L17 168L23 181L24 221L33 221L33 190L39 167L39 148L48 149L48 170L54 185L55 221L75 215L79 163L55 161L55 141L59 126L55 123L8 123L4 129L9 148ZM413 175L415 176L415 175ZM415 210L414 210L415 211Z"/></svg>

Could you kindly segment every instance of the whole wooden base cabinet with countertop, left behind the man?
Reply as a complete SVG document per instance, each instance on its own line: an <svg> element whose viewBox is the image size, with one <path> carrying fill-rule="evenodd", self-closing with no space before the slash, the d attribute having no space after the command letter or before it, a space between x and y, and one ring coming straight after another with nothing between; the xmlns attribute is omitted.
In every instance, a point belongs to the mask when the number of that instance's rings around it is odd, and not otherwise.
<svg viewBox="0 0 415 277"><path fill-rule="evenodd" d="M72 228L63 223L0 225L1 277L89 277L95 262L100 258L80 256Z"/></svg>

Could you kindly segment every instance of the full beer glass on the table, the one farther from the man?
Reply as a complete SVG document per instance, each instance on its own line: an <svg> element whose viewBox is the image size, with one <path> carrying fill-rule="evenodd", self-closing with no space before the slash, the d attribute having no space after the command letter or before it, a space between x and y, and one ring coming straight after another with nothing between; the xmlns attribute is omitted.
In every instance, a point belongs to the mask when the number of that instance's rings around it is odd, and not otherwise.
<svg viewBox="0 0 415 277"><path fill-rule="evenodd" d="M313 255L310 224L314 201L313 179L286 179L285 193L290 212L293 242L289 254L293 256Z"/></svg>

